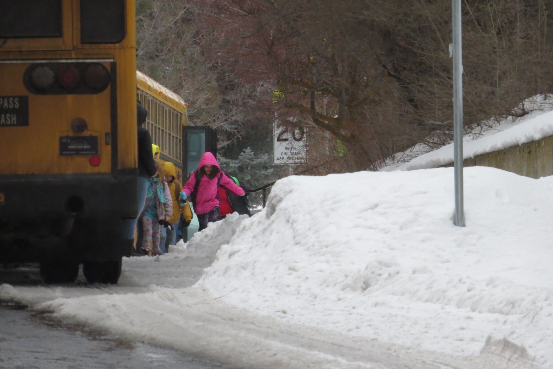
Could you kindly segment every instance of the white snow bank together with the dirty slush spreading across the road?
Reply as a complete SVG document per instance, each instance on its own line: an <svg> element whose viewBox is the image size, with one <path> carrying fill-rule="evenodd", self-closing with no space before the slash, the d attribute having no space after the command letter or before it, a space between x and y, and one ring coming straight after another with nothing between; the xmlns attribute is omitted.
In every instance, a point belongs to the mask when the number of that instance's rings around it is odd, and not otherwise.
<svg viewBox="0 0 553 369"><path fill-rule="evenodd" d="M553 183L466 168L465 212L452 168L290 176L118 286L0 298L239 368L553 368Z"/></svg>

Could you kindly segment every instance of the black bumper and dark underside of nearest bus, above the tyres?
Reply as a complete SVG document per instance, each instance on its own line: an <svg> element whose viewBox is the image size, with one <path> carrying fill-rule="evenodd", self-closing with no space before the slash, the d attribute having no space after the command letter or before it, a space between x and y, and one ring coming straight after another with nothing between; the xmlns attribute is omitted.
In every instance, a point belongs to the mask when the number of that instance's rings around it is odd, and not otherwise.
<svg viewBox="0 0 553 369"><path fill-rule="evenodd" d="M124 222L137 175L0 177L0 262L113 261L129 256Z"/></svg>

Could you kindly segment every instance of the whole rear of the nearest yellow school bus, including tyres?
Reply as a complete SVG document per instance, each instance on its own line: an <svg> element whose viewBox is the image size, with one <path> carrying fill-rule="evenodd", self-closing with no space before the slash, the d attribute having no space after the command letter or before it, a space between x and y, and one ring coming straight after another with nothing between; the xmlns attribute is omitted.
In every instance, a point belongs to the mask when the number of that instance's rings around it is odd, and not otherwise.
<svg viewBox="0 0 553 369"><path fill-rule="evenodd" d="M0 263L116 283L137 215L134 1L0 0Z"/></svg>

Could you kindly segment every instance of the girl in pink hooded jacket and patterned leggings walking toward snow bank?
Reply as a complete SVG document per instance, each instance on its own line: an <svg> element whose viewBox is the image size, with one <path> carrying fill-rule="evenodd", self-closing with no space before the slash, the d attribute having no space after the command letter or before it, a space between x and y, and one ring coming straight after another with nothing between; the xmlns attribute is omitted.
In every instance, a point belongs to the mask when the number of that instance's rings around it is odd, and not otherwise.
<svg viewBox="0 0 553 369"><path fill-rule="evenodd" d="M190 174L189 180L186 181L180 193L182 200L186 200L186 198L192 200L194 212L200 223L199 231L205 229L208 222L219 220L219 202L221 200L217 190L219 186L237 196L246 194L225 175L212 153L204 153L198 169Z"/></svg>

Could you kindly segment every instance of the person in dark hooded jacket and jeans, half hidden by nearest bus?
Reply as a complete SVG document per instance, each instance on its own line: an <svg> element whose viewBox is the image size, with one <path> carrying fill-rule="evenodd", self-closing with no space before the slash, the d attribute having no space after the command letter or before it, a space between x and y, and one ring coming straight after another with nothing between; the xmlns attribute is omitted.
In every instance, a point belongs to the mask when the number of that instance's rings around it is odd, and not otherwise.
<svg viewBox="0 0 553 369"><path fill-rule="evenodd" d="M155 168L154 155L152 154L152 137L148 129L142 127L146 121L148 111L137 102L137 124L138 124L138 183L137 183L137 204L138 210L142 211L146 202L148 190L148 179L158 174ZM134 239L134 227L137 218L125 222L125 233L128 240Z"/></svg>

